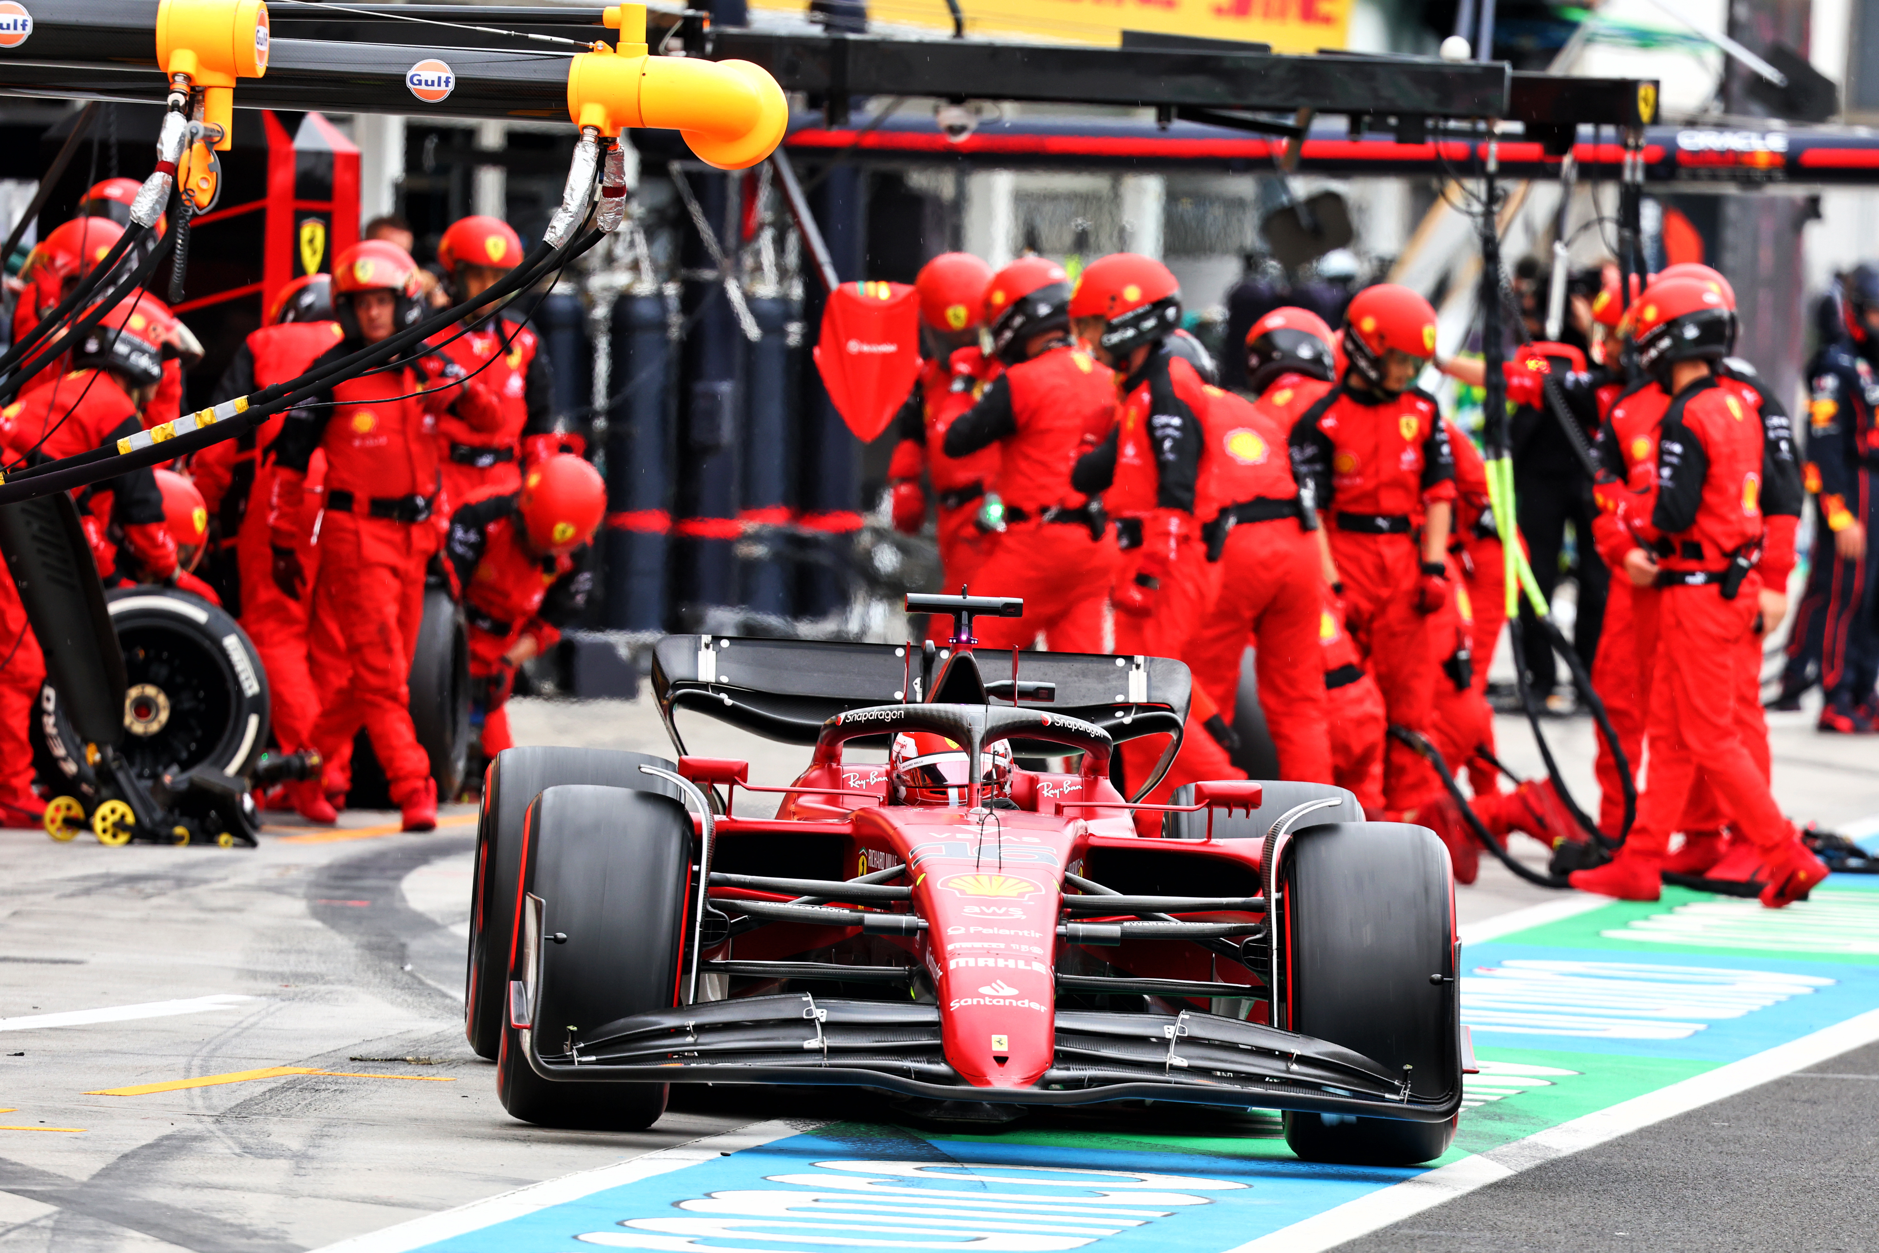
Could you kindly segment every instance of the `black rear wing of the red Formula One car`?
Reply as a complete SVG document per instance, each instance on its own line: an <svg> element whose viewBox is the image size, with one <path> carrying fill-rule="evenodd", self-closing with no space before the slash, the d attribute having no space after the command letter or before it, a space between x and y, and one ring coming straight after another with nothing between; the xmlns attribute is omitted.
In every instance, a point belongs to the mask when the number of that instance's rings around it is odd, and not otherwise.
<svg viewBox="0 0 1879 1253"><path fill-rule="evenodd" d="M923 701L949 648L836 641L667 635L652 650L652 695L673 746L673 716L691 710L780 744L815 744L827 719L894 701ZM1017 688L1005 650L973 654L994 706L1067 714L1114 740L1180 735L1188 718L1188 667L1169 657L1086 652L1018 652ZM1017 701L1013 701L1017 691ZM1037 746L1015 751L1062 753Z"/></svg>

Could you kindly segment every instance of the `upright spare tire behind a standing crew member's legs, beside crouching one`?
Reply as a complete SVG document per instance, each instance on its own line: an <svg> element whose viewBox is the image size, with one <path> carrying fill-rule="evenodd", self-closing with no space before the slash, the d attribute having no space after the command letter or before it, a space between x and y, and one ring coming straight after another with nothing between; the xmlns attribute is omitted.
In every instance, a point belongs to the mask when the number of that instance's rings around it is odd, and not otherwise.
<svg viewBox="0 0 1879 1253"><path fill-rule="evenodd" d="M470 633L462 609L443 588L425 590L425 620L412 656L410 710L417 742L430 757L438 800L449 804L470 772ZM372 736L353 738L351 787L346 806L393 810L385 768L372 751Z"/></svg>

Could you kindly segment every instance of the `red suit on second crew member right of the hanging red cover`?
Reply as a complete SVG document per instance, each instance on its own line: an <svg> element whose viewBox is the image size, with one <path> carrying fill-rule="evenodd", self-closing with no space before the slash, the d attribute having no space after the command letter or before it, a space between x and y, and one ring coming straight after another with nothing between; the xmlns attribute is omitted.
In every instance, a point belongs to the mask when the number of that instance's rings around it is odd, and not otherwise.
<svg viewBox="0 0 1879 1253"><path fill-rule="evenodd" d="M1005 530L979 567L981 596L1022 596L1022 618L975 618L981 648L1103 652L1103 601L1116 565L1101 502L1071 487L1086 432L1109 426L1114 374L1056 344L1007 368L958 415L941 451L962 458L1000 445Z"/></svg>

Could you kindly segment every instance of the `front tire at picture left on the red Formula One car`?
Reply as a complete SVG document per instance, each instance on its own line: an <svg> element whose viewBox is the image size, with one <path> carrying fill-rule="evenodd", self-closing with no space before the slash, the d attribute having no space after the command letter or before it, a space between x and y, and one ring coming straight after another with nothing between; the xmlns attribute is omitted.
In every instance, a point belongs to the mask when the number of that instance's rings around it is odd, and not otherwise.
<svg viewBox="0 0 1879 1253"><path fill-rule="evenodd" d="M678 1003L691 817L671 797L562 785L536 797L522 885L541 898L537 1048L558 1054L611 1022ZM526 945L519 945L519 951ZM519 952L520 979L524 956ZM536 1075L526 1031L504 1016L496 1093L513 1118L543 1127L644 1131L667 1084L569 1082Z"/></svg>

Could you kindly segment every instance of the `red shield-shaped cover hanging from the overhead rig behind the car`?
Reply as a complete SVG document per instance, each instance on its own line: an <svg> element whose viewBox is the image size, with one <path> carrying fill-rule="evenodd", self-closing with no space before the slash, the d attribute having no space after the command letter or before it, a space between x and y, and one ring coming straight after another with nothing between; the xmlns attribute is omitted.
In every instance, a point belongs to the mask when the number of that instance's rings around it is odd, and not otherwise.
<svg viewBox="0 0 1879 1253"><path fill-rule="evenodd" d="M872 441L921 372L921 299L906 284L842 284L829 295L815 368L855 438Z"/></svg>

